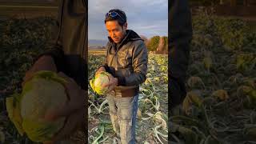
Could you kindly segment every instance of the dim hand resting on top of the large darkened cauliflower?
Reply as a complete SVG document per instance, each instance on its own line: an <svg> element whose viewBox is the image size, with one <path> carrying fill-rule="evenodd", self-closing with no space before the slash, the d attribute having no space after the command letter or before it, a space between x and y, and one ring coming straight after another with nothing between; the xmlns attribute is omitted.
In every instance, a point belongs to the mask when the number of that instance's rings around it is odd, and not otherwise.
<svg viewBox="0 0 256 144"><path fill-rule="evenodd" d="M38 61L34 62L34 65L30 68L30 70L26 71L25 77L23 78L22 86L32 78L33 74L40 70L50 70L57 72L57 68L54 64L54 58L50 56L43 55L38 58Z"/></svg>

